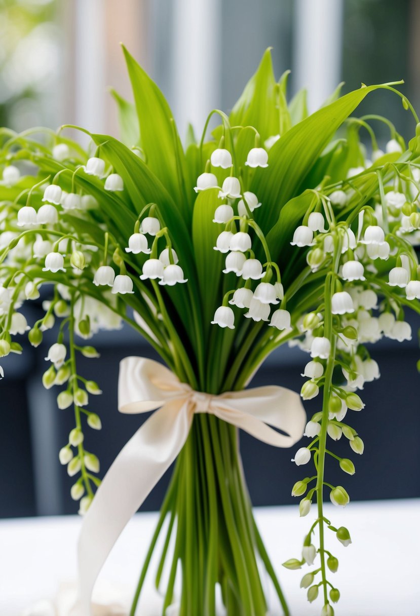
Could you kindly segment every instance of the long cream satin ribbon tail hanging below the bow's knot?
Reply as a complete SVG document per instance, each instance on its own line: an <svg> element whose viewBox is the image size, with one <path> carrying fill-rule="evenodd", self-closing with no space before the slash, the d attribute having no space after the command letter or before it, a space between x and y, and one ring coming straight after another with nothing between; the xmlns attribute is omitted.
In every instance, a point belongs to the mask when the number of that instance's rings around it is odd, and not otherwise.
<svg viewBox="0 0 420 616"><path fill-rule="evenodd" d="M185 400L155 411L127 442L84 516L78 543L78 614L91 616L96 578L127 522L187 440L192 414Z"/></svg>

